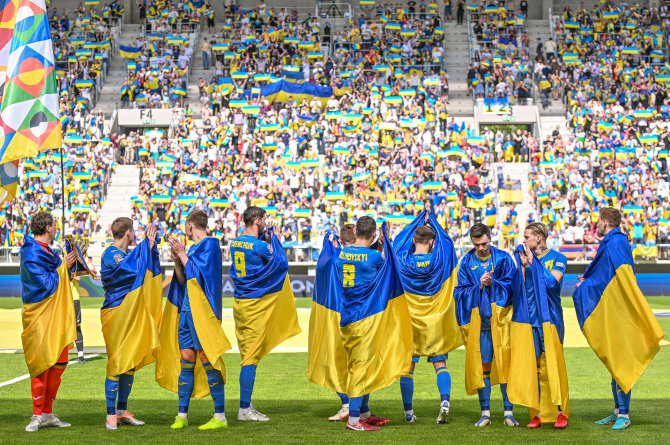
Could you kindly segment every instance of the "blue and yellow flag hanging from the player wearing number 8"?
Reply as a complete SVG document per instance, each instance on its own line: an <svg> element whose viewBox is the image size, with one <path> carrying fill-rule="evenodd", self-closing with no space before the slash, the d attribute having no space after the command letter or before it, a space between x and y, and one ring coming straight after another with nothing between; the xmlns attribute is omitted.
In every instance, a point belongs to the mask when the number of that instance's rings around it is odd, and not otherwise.
<svg viewBox="0 0 670 445"><path fill-rule="evenodd" d="M383 233L386 227L385 222ZM389 386L409 372L412 361L412 324L398 260L386 235L383 243L384 262L375 278L351 288L342 306L348 381L337 390L349 397Z"/></svg>

